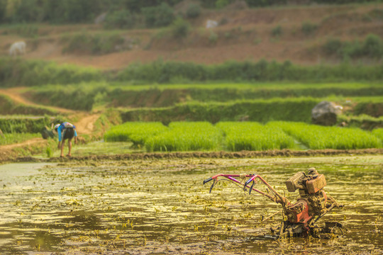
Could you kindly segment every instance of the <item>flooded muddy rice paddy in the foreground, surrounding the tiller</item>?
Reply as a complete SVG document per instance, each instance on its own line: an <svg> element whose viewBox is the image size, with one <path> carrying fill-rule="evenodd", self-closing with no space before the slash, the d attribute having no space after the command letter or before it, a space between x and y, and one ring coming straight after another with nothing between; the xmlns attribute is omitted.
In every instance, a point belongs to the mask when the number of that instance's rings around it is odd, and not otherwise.
<svg viewBox="0 0 383 255"><path fill-rule="evenodd" d="M289 200L284 181L315 167L343 209L331 239L275 240L260 222L280 209L220 182L260 174ZM0 254L382 254L383 156L161 159L0 166ZM258 184L259 187L260 184Z"/></svg>

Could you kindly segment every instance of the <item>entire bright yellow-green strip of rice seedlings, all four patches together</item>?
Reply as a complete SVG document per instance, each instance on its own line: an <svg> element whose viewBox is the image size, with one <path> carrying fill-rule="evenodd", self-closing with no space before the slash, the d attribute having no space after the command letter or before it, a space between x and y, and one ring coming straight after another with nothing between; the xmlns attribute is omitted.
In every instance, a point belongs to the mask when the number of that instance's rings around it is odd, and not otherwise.
<svg viewBox="0 0 383 255"><path fill-rule="evenodd" d="M125 123L106 132L106 141L133 142L148 152L184 152L268 149L366 149L382 147L382 131L323 127L306 123L255 122L173 122ZM296 141L295 141L296 140Z"/></svg>

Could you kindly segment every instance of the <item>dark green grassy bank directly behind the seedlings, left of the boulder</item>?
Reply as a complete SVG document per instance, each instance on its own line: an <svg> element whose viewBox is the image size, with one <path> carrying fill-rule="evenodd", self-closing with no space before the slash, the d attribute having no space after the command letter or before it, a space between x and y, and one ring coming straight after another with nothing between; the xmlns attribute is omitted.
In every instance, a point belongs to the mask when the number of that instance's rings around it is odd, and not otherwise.
<svg viewBox="0 0 383 255"><path fill-rule="evenodd" d="M224 103L190 102L168 108L138 108L121 113L126 121L250 121L267 123L270 120L310 122L311 109L317 98L272 98L268 100L228 101Z"/></svg>

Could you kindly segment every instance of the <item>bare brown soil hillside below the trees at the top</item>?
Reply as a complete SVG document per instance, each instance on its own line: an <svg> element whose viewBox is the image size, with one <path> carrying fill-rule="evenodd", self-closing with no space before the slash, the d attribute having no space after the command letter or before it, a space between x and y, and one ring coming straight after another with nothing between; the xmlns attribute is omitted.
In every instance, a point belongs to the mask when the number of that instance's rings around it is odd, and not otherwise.
<svg viewBox="0 0 383 255"><path fill-rule="evenodd" d="M374 15L383 4L313 5L286 8L204 10L190 20L187 38L175 39L166 29L118 30L126 40L136 40L128 50L116 49L105 55L86 52L63 53L63 36L78 33L108 33L102 25L50 26L41 24L35 38L23 38L9 28L0 28L0 49L8 54L16 40L26 40L26 59L52 60L101 69L121 69L133 62L175 60L217 64L228 60L290 60L298 64L338 62L322 50L328 38L363 40L369 33L383 36L382 17ZM206 21L217 21L216 28L205 28ZM302 30L304 23L316 26ZM279 31L278 31L279 30ZM91 45L89 45L91 47Z"/></svg>

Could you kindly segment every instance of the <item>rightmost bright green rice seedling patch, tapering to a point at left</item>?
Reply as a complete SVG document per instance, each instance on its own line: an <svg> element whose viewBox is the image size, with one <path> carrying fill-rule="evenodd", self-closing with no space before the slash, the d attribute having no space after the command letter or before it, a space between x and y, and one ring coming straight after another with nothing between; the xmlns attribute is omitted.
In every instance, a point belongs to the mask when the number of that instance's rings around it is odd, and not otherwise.
<svg viewBox="0 0 383 255"><path fill-rule="evenodd" d="M380 148L382 141L368 131L357 128L323 127L306 123L271 122L310 149Z"/></svg>

